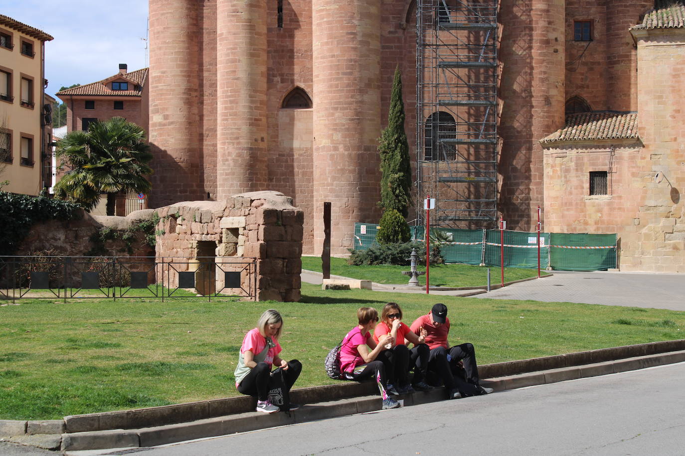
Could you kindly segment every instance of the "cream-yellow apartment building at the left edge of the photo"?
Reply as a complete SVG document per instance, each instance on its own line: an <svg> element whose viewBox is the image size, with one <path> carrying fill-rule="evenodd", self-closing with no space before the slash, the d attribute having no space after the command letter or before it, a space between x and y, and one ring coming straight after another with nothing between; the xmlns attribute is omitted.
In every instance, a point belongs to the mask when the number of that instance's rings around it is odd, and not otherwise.
<svg viewBox="0 0 685 456"><path fill-rule="evenodd" d="M0 14L0 181L4 191L38 195L49 186L43 164L51 134L44 103L45 42L52 36ZM49 173L45 173L49 174Z"/></svg>

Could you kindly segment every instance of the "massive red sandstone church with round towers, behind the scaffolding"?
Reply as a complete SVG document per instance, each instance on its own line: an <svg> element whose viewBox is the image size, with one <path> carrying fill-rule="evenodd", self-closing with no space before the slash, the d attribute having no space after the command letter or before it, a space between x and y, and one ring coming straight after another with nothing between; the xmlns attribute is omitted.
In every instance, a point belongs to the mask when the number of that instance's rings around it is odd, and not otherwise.
<svg viewBox="0 0 685 456"><path fill-rule="evenodd" d="M440 114L416 122L416 1L150 0L152 206L281 191L305 213L304 252L319 253L330 201L332 253L346 253L354 222L379 219L397 66L408 137ZM484 3L418 1L437 23ZM685 28L671 3L493 1L508 228L533 230L539 205L545 230L617 232L622 269L683 271ZM419 167L427 154L410 146Z"/></svg>

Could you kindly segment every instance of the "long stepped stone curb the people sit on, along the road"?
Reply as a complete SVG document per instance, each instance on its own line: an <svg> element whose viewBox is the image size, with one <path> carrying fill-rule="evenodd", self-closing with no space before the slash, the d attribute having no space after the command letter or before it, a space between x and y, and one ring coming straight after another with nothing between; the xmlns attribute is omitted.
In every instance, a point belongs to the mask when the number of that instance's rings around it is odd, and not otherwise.
<svg viewBox="0 0 685 456"><path fill-rule="evenodd" d="M495 390L509 390L683 361L685 339L486 364L479 366L479 373L486 379L484 384ZM61 447L62 451L131 448L371 412L380 405L373 383L341 381L299 388L292 390L290 397L294 403L308 405L290 416L258 414L253 412L255 400L242 396L65 416L64 420L0 420L0 435L12 436L3 440ZM436 388L402 399L410 406L445 397L444 388Z"/></svg>

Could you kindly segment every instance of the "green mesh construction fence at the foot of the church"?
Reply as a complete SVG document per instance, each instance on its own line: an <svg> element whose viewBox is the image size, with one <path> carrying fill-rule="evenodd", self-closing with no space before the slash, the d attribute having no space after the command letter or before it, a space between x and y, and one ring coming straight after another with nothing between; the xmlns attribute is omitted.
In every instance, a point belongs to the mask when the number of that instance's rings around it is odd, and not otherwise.
<svg viewBox="0 0 685 456"><path fill-rule="evenodd" d="M425 241L425 228L412 226L410 229L412 239ZM371 247L377 231L377 224L355 224L354 249ZM447 240L440 247L446 263L500 266L503 253L505 267L538 267L537 232L449 228L440 228L440 231L447 234ZM614 268L616 234L540 232L540 268L547 269L550 265L551 269L560 271Z"/></svg>

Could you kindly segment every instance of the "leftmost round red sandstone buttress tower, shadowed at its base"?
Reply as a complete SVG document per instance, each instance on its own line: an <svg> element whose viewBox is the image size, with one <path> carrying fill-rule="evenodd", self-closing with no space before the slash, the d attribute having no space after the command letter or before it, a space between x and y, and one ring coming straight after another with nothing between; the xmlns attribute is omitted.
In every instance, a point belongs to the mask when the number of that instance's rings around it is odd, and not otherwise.
<svg viewBox="0 0 685 456"><path fill-rule="evenodd" d="M204 199L197 122L201 75L197 2L150 0L149 29L149 139L156 189L150 204Z"/></svg>

